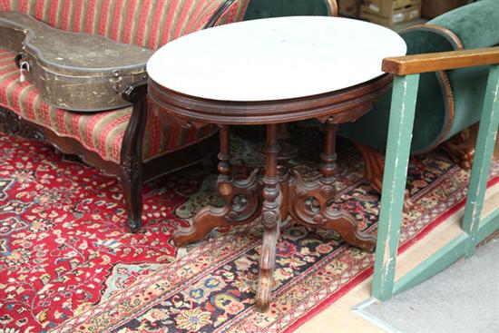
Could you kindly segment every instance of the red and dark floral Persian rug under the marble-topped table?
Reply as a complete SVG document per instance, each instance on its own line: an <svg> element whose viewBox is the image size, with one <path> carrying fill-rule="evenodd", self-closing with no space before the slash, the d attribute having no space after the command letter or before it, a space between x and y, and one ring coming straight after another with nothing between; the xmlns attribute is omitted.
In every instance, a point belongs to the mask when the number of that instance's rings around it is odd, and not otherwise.
<svg viewBox="0 0 499 333"><path fill-rule="evenodd" d="M238 174L259 165L259 133L231 138ZM313 175L321 136L295 128L300 160ZM376 233L379 195L363 179L363 162L338 147L333 205ZM373 256L333 231L284 224L278 244L274 300L254 307L259 222L214 231L176 250L171 233L208 203L218 203L215 171L194 166L147 185L142 230L129 234L118 181L71 162L52 147L0 133L0 332L286 332L372 273ZM494 162L490 184L499 181ZM462 207L468 173L445 155L416 156L401 249Z"/></svg>

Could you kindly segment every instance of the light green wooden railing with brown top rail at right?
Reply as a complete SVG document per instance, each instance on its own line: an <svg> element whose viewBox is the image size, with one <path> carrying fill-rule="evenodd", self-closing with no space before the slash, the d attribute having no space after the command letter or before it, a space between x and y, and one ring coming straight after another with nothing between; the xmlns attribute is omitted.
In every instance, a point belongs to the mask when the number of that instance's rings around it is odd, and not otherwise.
<svg viewBox="0 0 499 333"><path fill-rule="evenodd" d="M488 64L491 66L466 197L465 216L461 226L463 232L395 281L396 251L419 73ZM472 256L478 242L499 229L499 208L483 219L480 218L499 123L499 47L386 58L382 68L386 73L395 74L395 79L386 143L372 295L376 299L386 300L434 276L455 260Z"/></svg>

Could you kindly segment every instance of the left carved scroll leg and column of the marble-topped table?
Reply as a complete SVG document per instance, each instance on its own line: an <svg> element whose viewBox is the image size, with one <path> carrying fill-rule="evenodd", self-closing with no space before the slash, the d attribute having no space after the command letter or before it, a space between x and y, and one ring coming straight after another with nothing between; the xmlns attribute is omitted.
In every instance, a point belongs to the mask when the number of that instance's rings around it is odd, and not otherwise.
<svg viewBox="0 0 499 333"><path fill-rule="evenodd" d="M218 157L220 175L217 187L224 204L219 208L205 207L194 216L191 226L179 228L173 234L175 246L202 240L214 228L248 223L259 216L261 211L259 170L253 170L245 180L232 179L229 163L229 127L225 125L220 126Z"/></svg>

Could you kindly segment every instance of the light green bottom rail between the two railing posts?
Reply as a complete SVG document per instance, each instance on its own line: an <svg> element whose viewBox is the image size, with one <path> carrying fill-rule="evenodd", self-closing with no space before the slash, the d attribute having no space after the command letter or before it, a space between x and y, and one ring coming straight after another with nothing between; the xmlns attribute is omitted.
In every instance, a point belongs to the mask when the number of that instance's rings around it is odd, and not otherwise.
<svg viewBox="0 0 499 333"><path fill-rule="evenodd" d="M419 283L429 279L442 270L446 269L456 260L463 257L466 253L466 244L470 238L466 233L462 233L455 240L450 241L442 249L435 252L427 260L409 271L405 276L398 279L394 286L394 294L398 294L407 289L411 289Z"/></svg>

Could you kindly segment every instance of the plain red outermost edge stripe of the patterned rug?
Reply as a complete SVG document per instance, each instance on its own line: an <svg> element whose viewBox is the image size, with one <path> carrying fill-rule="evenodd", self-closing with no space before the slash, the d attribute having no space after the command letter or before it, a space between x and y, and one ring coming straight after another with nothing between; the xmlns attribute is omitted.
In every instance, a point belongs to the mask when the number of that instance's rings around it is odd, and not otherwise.
<svg viewBox="0 0 499 333"><path fill-rule="evenodd" d="M499 183L499 175L495 176L491 180L487 181L487 190L492 188L494 185ZM396 251L397 254L404 253L407 249L412 247L416 242L419 240L424 239L430 231L434 230L437 226L439 226L442 222L450 218L452 215L454 215L457 211L461 210L463 207L465 207L466 203L466 198L463 198L461 201L456 203L452 208L450 208L448 211L445 211L442 215L440 215L437 219L435 219L432 223L426 225L423 230L421 230L416 237L406 241L406 244L403 244L398 248ZM294 323L289 325L288 328L285 328L284 330L281 331L281 333L291 333L301 327L303 324L305 324L308 320L311 318L316 317L320 312L323 310L327 309L329 305L333 304L337 299L343 297L345 294L347 294L348 291L351 289L354 289L357 287L358 284L369 278L374 270L374 266L371 266L370 268L364 270L362 273L357 275L355 279L352 279L349 281L343 288L339 289L336 293L333 295L329 296L327 299L324 299L322 302L318 303L314 309L311 309L308 311L308 313L305 316L302 316L298 318Z"/></svg>

